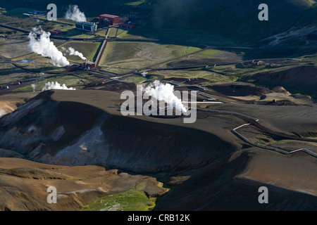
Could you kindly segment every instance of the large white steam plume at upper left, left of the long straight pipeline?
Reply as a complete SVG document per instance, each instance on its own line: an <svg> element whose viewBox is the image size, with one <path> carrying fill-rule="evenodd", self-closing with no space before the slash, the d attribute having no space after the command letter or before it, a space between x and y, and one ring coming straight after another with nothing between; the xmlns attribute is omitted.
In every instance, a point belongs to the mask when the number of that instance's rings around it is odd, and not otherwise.
<svg viewBox="0 0 317 225"><path fill-rule="evenodd" d="M69 65L69 62L61 51L58 51L54 43L49 39L50 32L44 32L42 28L33 27L28 38L30 43L27 48L44 57L49 57L58 65Z"/></svg>

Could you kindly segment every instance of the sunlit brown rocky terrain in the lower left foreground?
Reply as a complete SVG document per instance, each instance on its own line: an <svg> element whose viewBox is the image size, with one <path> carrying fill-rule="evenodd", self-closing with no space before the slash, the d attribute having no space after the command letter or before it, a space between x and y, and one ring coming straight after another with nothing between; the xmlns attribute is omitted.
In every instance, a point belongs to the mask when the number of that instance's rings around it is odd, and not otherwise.
<svg viewBox="0 0 317 225"><path fill-rule="evenodd" d="M94 165L66 167L18 158L0 158L0 210L79 210L98 197L135 189L159 196L168 189L150 176L130 175ZM57 203L49 204L47 189L57 190Z"/></svg>

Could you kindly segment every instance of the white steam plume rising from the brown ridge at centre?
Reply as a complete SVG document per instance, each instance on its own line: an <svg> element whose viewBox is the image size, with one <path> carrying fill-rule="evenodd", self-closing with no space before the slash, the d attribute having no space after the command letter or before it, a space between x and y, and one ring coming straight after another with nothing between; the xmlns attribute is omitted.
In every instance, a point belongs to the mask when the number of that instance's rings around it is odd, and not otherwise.
<svg viewBox="0 0 317 225"><path fill-rule="evenodd" d="M168 105L180 110L180 112L187 112L185 106L182 104L182 100L173 93L174 86L172 84L161 84L161 82L156 80L145 87L143 91L148 96L152 96L159 101L165 101Z"/></svg>

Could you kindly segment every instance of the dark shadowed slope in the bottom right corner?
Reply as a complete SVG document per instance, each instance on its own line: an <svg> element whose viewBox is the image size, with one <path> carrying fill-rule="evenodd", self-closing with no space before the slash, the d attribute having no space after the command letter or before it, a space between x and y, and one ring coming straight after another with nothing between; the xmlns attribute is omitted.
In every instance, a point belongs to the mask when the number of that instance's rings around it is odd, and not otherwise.
<svg viewBox="0 0 317 225"><path fill-rule="evenodd" d="M316 196L239 177L252 155L243 153L231 162L199 169L170 192L158 210L316 210ZM261 186L268 188L268 204L258 201Z"/></svg>

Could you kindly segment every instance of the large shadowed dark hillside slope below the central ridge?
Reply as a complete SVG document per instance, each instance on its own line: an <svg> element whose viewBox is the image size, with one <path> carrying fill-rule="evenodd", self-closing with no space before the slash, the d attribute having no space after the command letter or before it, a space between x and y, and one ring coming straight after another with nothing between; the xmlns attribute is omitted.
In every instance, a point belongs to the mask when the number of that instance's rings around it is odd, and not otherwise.
<svg viewBox="0 0 317 225"><path fill-rule="evenodd" d="M237 150L206 131L109 115L90 105L53 101L51 94L43 92L1 118L2 148L37 162L138 173L194 169Z"/></svg>

